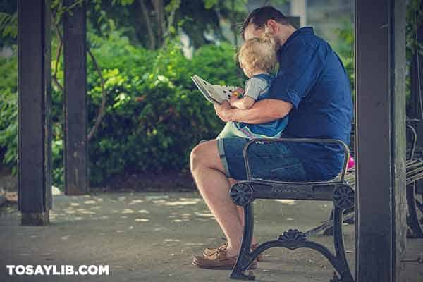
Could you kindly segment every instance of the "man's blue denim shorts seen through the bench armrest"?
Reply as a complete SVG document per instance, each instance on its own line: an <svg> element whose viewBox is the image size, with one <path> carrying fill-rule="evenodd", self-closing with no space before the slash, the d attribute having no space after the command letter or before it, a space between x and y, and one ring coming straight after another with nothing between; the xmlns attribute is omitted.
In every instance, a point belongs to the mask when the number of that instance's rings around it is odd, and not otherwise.
<svg viewBox="0 0 423 282"><path fill-rule="evenodd" d="M247 180L243 150L249 140L223 138L217 140L219 156L226 176L235 180ZM258 142L247 151L252 178L279 181L306 181L307 176L300 159L295 157L288 143Z"/></svg>

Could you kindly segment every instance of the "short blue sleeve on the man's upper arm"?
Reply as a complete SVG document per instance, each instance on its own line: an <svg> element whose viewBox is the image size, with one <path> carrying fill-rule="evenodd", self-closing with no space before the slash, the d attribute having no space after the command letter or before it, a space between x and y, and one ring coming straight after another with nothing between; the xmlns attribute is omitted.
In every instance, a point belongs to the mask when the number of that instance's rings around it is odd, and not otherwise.
<svg viewBox="0 0 423 282"><path fill-rule="evenodd" d="M279 71L270 87L271 99L293 104L295 109L319 78L328 47L322 42L304 39L290 42L280 54Z"/></svg>

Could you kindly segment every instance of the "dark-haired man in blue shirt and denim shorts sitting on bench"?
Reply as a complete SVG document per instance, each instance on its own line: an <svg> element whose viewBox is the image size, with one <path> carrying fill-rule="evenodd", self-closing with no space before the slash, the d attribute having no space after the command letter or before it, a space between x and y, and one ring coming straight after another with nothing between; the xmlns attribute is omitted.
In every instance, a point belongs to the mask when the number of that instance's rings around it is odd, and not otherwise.
<svg viewBox="0 0 423 282"><path fill-rule="evenodd" d="M256 102L247 110L223 103L215 106L216 114L225 122L252 124L289 114L283 137L331 138L348 144L353 103L348 76L336 53L311 27L296 30L271 6L252 11L243 23L245 40L262 37L265 32L280 46L271 99ZM225 245L192 257L197 266L231 269L235 264L243 236L243 211L233 204L228 190L232 179L247 179L243 159L246 142L243 138L210 140L192 149L192 176L227 238ZM248 159L255 178L288 181L328 180L343 166L339 147L305 143L257 145ZM252 247L256 244L253 238Z"/></svg>

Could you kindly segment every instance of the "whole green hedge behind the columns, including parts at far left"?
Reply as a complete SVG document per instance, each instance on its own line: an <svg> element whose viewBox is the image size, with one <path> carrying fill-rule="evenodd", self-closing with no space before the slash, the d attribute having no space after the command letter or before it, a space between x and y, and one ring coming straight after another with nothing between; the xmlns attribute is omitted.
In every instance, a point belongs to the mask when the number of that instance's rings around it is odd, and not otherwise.
<svg viewBox="0 0 423 282"><path fill-rule="evenodd" d="M135 47L118 32L102 39L90 35L92 53L102 68L106 113L89 143L91 185L135 171L181 171L190 149L216 137L223 123L195 88L190 76L216 83L239 84L229 44L204 45L186 59L178 44L151 51ZM94 124L102 99L100 78L88 57L88 119ZM3 163L16 171L16 58L0 61L0 148ZM56 62L52 61L53 71ZM59 63L58 78L63 82ZM138 99L138 101L135 100ZM54 184L63 185L63 97L52 92Z"/></svg>

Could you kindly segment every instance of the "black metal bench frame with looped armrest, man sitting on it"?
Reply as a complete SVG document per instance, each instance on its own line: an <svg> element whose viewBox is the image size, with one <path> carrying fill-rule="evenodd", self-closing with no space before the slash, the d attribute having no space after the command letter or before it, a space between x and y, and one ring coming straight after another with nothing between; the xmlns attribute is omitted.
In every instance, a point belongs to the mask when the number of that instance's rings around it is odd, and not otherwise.
<svg viewBox="0 0 423 282"><path fill-rule="evenodd" d="M339 145L345 152L343 171L340 176L334 180L321 182L281 182L274 180L255 179L248 164L248 149L251 145L261 145L270 142L311 142L323 143L328 145ZM355 192L353 187L345 180L346 165L349 159L348 146L338 140L321 139L256 139L245 145L244 159L247 170L247 180L240 181L232 185L230 195L238 206L244 208L245 224L243 231L243 242L241 244L238 260L232 271L231 278L253 280L252 274L244 274L248 266L257 258L259 254L271 247L285 247L290 250L298 248L309 248L316 250L329 260L338 276L334 274L331 281L353 282L348 261L345 257L343 244L343 212L347 209L353 209L355 201ZM320 243L307 238L305 233L296 229L290 229L279 235L276 240L262 243L254 251L250 251L250 245L253 234L253 209L252 202L256 199L287 199L287 200L332 200L333 201L333 245L335 253Z"/></svg>

